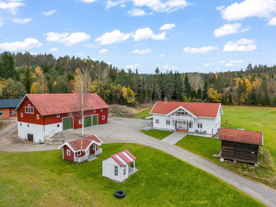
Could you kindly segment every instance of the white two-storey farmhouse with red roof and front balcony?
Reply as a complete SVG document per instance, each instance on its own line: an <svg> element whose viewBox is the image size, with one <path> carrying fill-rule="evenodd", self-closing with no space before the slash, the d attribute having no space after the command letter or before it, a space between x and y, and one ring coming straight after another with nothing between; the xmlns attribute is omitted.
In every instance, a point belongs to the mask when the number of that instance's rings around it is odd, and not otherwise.
<svg viewBox="0 0 276 207"><path fill-rule="evenodd" d="M215 135L224 114L221 103L157 101L150 114L152 127ZM149 117L148 117L149 118Z"/></svg>

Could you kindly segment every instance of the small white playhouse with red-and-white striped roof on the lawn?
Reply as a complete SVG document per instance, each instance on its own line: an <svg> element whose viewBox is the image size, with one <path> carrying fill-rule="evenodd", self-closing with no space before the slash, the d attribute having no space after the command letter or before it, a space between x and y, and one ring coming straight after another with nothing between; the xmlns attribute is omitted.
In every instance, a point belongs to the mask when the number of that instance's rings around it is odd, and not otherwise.
<svg viewBox="0 0 276 207"><path fill-rule="evenodd" d="M135 173L135 160L134 157L128 150L124 150L115 155L112 155L101 162L103 164L103 176L117 181L124 181L130 175ZM128 166L133 162L133 168ZM131 172L130 172L131 169Z"/></svg>

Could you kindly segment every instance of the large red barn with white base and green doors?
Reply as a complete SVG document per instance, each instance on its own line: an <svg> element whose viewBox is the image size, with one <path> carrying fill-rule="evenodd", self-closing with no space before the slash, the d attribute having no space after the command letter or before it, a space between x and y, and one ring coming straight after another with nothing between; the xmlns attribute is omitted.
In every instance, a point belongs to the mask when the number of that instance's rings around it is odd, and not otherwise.
<svg viewBox="0 0 276 207"><path fill-rule="evenodd" d="M96 93L83 95L84 126L106 124L108 105ZM27 94L15 110L18 135L44 142L57 132L81 128L81 94Z"/></svg>

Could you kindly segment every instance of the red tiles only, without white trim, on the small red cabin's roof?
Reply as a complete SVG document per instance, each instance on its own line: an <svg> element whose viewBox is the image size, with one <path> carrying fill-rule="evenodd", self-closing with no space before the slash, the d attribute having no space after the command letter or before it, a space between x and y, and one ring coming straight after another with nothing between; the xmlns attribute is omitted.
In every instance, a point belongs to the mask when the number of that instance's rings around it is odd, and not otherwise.
<svg viewBox="0 0 276 207"><path fill-rule="evenodd" d="M99 139L96 135L90 135L88 137L83 137L80 139L75 139L68 142L68 145L70 145L75 151L79 150L85 150L92 141L97 142L98 144L101 144L102 141Z"/></svg>

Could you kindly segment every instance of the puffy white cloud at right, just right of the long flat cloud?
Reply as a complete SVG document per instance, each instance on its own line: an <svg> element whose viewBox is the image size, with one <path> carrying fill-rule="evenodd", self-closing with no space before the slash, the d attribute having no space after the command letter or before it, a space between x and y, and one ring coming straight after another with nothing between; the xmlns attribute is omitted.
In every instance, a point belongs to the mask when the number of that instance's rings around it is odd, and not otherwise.
<svg viewBox="0 0 276 207"><path fill-rule="evenodd" d="M224 46L224 52L245 52L256 50L256 46L253 45L253 39L239 39L238 41L228 41Z"/></svg>

